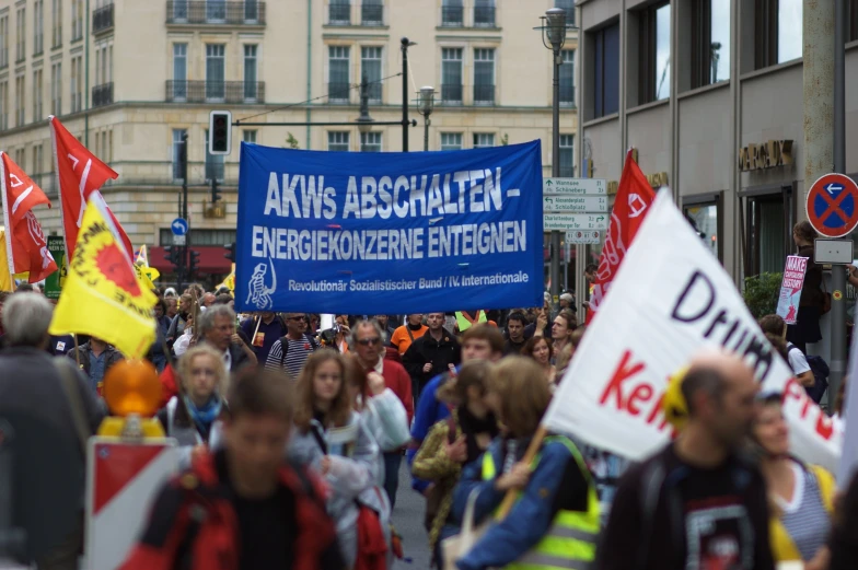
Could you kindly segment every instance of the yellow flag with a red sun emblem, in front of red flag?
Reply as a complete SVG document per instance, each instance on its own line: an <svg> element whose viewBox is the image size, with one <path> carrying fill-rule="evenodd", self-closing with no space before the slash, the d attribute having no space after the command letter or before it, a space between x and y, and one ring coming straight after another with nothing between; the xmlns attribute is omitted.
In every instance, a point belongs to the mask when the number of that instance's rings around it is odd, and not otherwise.
<svg viewBox="0 0 858 570"><path fill-rule="evenodd" d="M138 281L131 252L117 236L107 206L93 193L49 331L94 336L142 358L155 340L158 298Z"/></svg>

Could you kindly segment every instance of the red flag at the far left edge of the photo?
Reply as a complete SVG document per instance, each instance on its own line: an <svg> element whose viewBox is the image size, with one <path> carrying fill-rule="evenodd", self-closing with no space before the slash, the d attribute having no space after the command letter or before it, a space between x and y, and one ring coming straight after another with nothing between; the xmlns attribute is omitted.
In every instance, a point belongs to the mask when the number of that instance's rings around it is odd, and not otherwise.
<svg viewBox="0 0 858 570"><path fill-rule="evenodd" d="M48 252L33 207L47 203L50 208L50 200L5 152L0 152L0 191L9 271L30 271L31 283L42 281L57 270L57 263Z"/></svg>

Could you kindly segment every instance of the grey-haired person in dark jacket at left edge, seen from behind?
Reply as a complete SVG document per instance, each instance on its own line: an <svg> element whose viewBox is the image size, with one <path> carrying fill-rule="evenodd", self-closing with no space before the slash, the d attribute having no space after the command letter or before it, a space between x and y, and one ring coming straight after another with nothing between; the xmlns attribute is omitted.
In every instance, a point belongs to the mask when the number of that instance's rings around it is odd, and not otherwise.
<svg viewBox="0 0 858 570"><path fill-rule="evenodd" d="M39 293L15 293L3 304L7 348L0 352L0 417L25 416L51 430L80 452L78 467L84 466L84 437L95 433L104 419L102 405L89 388L86 379L68 358L47 352L48 326L54 314L50 302ZM58 482L51 473L43 474L37 485L47 489ZM70 477L61 473L56 477ZM76 491L83 505L83 478ZM13 487L13 491L14 491ZM80 521L83 520L81 514ZM82 524L77 525L44 559L38 568L74 569L82 543Z"/></svg>

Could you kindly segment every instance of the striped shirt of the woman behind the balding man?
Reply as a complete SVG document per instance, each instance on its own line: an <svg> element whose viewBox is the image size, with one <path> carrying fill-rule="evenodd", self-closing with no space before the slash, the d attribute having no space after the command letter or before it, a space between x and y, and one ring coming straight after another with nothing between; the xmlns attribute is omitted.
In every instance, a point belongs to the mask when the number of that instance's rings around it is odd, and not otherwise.
<svg viewBox="0 0 858 570"><path fill-rule="evenodd" d="M777 502L784 511L780 522L796 543L801 558L810 560L816 555L816 550L825 545L831 528L831 517L822 502L816 477L795 462L792 470L796 476L792 500L787 502L777 497Z"/></svg>

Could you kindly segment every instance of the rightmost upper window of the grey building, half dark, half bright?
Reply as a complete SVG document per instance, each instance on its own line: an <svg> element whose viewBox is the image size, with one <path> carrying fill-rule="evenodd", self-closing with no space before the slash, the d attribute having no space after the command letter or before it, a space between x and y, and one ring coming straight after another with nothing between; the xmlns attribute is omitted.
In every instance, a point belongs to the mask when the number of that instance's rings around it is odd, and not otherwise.
<svg viewBox="0 0 858 570"><path fill-rule="evenodd" d="M801 57L802 0L755 0L754 67L763 69Z"/></svg>

